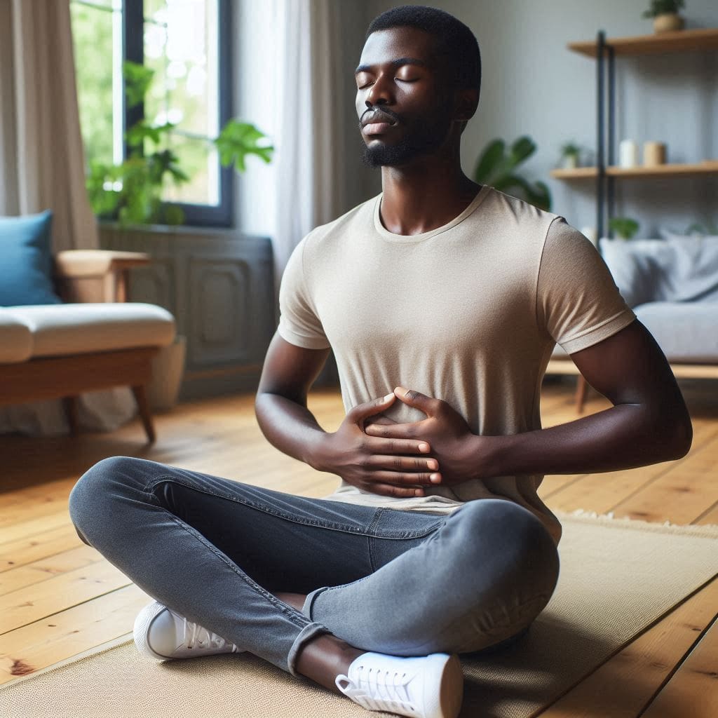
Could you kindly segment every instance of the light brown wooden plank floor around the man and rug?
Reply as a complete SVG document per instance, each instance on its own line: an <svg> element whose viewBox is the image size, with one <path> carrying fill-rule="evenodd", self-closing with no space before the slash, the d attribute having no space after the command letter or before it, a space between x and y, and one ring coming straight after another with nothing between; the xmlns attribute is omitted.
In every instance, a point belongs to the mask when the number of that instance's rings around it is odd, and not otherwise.
<svg viewBox="0 0 718 718"><path fill-rule="evenodd" d="M644 521L718 524L718 381L681 385L694 419L687 457L643 469L550 476L551 508L612 512ZM77 438L0 437L0 683L87 651L131 631L148 600L80 542L67 496L103 457L144 457L258 485L322 496L336 478L269 446L251 396L183 404L157 416L158 441L144 444L139 422ZM544 389L544 425L576 418L572 383ZM593 396L587 411L607 402ZM327 429L339 424L335 392L310 407ZM718 580L674 610L542 714L551 718L709 718L718 716ZM626 679L629 680L626 680Z"/></svg>

